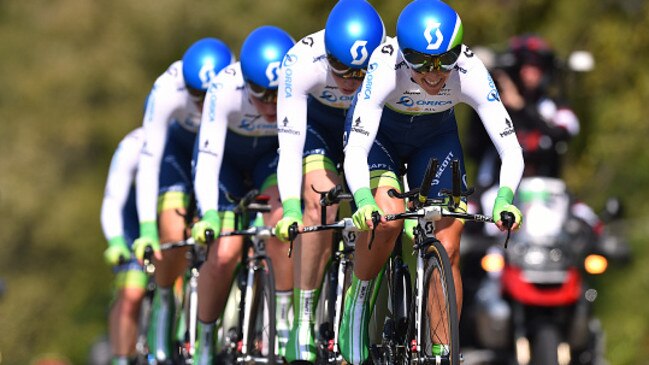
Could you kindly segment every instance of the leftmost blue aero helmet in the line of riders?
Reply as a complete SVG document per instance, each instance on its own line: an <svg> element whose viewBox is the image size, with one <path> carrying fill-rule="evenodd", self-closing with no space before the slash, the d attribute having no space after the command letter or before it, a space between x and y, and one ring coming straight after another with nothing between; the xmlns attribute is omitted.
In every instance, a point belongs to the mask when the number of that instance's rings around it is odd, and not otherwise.
<svg viewBox="0 0 649 365"><path fill-rule="evenodd" d="M190 93L205 93L210 80L233 61L234 55L221 40L203 38L192 44L183 55L183 77Z"/></svg>

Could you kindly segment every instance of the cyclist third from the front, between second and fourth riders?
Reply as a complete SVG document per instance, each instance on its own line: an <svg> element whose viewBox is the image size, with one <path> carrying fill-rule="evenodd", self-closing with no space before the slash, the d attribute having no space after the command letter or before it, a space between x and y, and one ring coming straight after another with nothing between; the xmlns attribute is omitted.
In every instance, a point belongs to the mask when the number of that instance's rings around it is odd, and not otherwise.
<svg viewBox="0 0 649 365"><path fill-rule="evenodd" d="M278 69L295 41L285 31L263 26L252 31L241 47L240 62L212 80L203 108L196 163L196 198L202 219L192 235L206 242L205 231L233 230L234 206L225 194L243 196L256 188L270 197L272 211L264 224L281 218L277 191ZM221 215L221 216L220 216ZM218 239L201 266L198 281L198 346L196 364L211 364L214 327L225 308L232 277L243 249L242 237ZM275 270L276 326L280 351L288 339L293 271L284 245L270 238L266 246Z"/></svg>

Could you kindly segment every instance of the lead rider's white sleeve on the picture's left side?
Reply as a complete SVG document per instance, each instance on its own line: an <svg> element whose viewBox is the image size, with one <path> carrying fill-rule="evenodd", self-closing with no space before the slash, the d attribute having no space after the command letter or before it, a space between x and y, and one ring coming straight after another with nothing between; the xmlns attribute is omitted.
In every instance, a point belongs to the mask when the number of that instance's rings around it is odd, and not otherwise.
<svg viewBox="0 0 649 365"><path fill-rule="evenodd" d="M356 95L344 162L347 184L353 193L370 187L367 157L379 130L385 100L396 87L398 48L392 43L395 42L390 39L374 50L367 74Z"/></svg>

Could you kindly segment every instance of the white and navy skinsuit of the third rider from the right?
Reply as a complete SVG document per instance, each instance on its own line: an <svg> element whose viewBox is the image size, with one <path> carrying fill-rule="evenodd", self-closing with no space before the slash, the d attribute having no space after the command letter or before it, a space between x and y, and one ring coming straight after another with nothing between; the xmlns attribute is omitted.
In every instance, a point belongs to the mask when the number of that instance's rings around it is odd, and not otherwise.
<svg viewBox="0 0 649 365"><path fill-rule="evenodd" d="M203 213L233 208L224 193L241 197L252 187L261 191L275 176L277 123L264 119L250 98L239 62L219 72L207 90L194 179Z"/></svg>

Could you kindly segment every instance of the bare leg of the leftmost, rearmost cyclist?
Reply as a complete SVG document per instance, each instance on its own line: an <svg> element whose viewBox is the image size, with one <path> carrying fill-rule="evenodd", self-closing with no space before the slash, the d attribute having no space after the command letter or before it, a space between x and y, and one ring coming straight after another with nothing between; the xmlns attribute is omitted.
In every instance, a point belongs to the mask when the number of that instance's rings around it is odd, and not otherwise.
<svg viewBox="0 0 649 365"><path fill-rule="evenodd" d="M147 279L137 261L116 270L117 298L110 312L110 343L114 360L124 361L135 353L138 316Z"/></svg>

